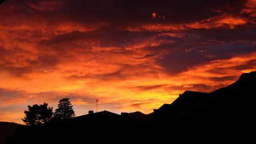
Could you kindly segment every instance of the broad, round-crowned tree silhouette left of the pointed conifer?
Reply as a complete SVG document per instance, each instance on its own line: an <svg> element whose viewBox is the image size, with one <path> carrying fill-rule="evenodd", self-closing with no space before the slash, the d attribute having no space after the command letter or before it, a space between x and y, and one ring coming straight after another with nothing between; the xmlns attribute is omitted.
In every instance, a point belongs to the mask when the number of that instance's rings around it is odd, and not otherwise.
<svg viewBox="0 0 256 144"><path fill-rule="evenodd" d="M25 110L26 114L22 121L27 125L43 124L48 122L53 115L53 108L48 107L47 103L42 105L28 106L28 111Z"/></svg>

